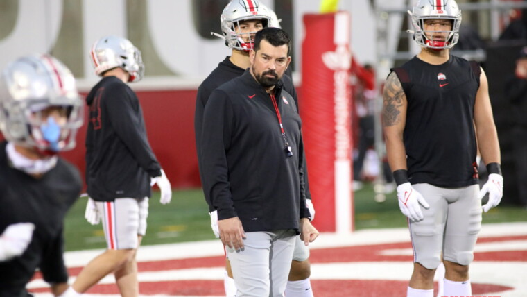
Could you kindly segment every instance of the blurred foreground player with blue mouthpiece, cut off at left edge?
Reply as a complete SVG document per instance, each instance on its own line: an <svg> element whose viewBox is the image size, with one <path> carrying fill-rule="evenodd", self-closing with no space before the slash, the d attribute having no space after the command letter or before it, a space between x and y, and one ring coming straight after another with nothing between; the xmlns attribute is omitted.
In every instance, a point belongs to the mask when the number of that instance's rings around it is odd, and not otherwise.
<svg viewBox="0 0 527 297"><path fill-rule="evenodd" d="M64 297L64 217L80 194L78 170L58 157L83 124L75 78L57 59L26 56L0 79L0 297L31 296L40 269Z"/></svg>

